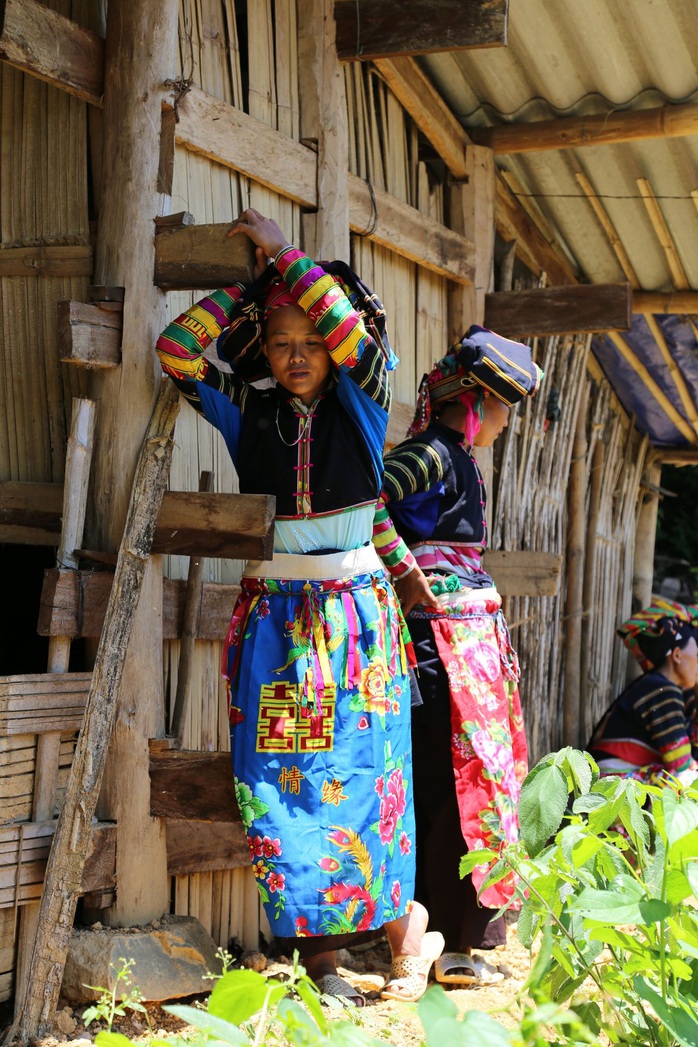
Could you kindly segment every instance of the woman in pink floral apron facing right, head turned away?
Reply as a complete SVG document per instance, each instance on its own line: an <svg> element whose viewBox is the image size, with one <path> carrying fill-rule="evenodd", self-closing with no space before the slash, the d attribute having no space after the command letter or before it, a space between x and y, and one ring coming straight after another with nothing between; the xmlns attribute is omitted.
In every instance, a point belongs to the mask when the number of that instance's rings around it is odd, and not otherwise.
<svg viewBox="0 0 698 1047"><path fill-rule="evenodd" d="M472 327L425 375L411 439L385 458L377 514L379 552L396 582L420 673L412 711L416 897L446 939L440 981L472 984L502 975L470 958L505 941L493 910L511 878L477 888L487 868L461 881L466 850L513 842L527 756L519 669L501 598L482 567L486 491L472 448L489 447L510 408L533 395L542 373L526 346ZM389 515L388 515L389 514ZM390 518L404 540L393 548ZM407 548L409 547L409 549Z"/></svg>

